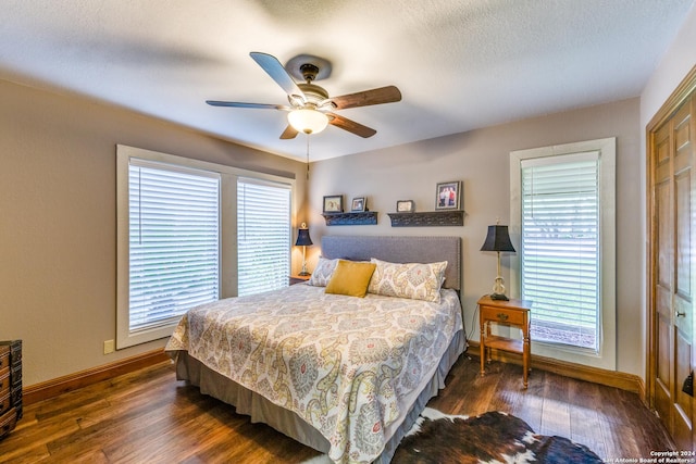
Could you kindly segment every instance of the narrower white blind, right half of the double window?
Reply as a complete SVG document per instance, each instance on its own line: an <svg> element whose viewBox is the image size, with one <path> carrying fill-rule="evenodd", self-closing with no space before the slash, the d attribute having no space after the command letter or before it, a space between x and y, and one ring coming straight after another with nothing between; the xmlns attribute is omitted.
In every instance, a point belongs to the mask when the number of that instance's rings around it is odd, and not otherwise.
<svg viewBox="0 0 696 464"><path fill-rule="evenodd" d="M290 185L237 181L238 294L287 287L290 275Z"/></svg>

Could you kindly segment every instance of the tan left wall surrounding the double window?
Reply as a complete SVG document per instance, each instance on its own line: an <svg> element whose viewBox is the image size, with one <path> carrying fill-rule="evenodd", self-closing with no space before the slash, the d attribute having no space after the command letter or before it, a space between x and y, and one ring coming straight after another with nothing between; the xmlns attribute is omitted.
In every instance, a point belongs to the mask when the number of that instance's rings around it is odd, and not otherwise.
<svg viewBox="0 0 696 464"><path fill-rule="evenodd" d="M2 80L0 101L0 339L23 340L25 386L166 341L103 354L116 335L116 143L295 175L302 206L304 163Z"/></svg>

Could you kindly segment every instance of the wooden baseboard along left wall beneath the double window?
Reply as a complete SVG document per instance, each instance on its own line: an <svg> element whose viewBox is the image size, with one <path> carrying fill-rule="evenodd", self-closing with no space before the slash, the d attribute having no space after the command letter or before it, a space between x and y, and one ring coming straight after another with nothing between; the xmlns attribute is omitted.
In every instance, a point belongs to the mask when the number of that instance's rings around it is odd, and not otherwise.
<svg viewBox="0 0 696 464"><path fill-rule="evenodd" d="M22 402L25 405L34 404L61 393L87 387L88 385L128 374L144 367L149 367L167 360L169 356L164 353L164 349L136 354L135 356L125 358L113 363L25 387L22 390Z"/></svg>

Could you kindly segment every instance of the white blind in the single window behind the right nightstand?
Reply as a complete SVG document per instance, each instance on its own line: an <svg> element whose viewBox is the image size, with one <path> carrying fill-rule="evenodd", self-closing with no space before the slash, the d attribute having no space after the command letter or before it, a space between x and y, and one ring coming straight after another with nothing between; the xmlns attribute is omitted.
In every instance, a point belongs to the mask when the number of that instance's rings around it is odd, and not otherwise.
<svg viewBox="0 0 696 464"><path fill-rule="evenodd" d="M597 352L600 334L599 153L521 162L521 290L532 338Z"/></svg>

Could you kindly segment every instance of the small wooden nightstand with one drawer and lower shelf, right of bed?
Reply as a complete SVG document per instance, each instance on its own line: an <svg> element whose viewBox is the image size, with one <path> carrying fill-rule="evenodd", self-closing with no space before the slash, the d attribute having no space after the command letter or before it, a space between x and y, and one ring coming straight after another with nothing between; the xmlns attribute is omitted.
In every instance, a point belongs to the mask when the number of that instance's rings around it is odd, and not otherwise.
<svg viewBox="0 0 696 464"><path fill-rule="evenodd" d="M486 373L486 361L490 362L490 349L522 354L524 388L530 372L530 310L532 302L526 300L492 300L489 296L478 300L481 322L481 375ZM522 340L490 335L490 324L518 327L522 330ZM487 350L487 352L486 352Z"/></svg>

